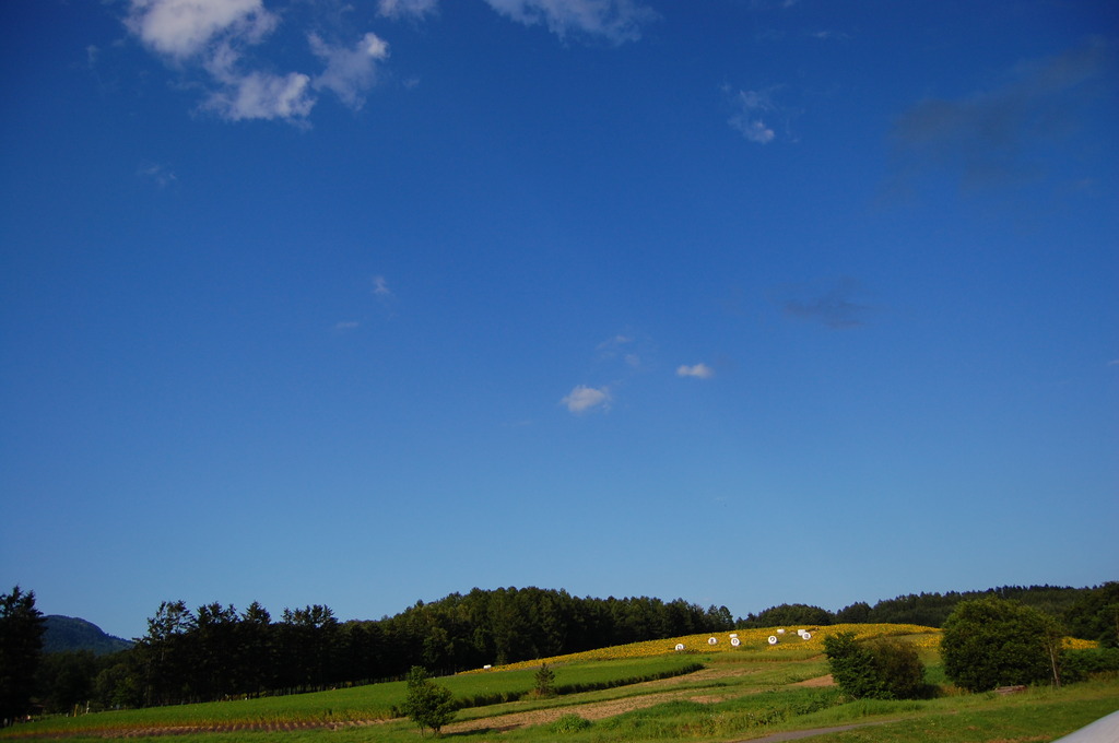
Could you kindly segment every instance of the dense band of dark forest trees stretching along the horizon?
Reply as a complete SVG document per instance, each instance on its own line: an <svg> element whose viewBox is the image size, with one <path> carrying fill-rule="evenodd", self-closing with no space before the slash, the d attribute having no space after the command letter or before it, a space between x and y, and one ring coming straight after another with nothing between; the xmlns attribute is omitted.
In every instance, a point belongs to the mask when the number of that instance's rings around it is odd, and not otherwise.
<svg viewBox="0 0 1119 743"><path fill-rule="evenodd" d="M401 678L412 666L436 675L545 658L640 640L734 628L913 623L939 627L955 605L985 595L1014 599L1059 618L1074 637L1119 645L1119 583L1092 589L1004 586L921 593L855 603L838 612L782 604L734 620L725 606L683 599L580 599L566 591L474 589L417 602L380 620L339 621L328 606L284 609L279 621L258 603L190 610L162 603L148 633L125 651L47 655L37 688L46 711L75 705L139 707L291 694Z"/></svg>

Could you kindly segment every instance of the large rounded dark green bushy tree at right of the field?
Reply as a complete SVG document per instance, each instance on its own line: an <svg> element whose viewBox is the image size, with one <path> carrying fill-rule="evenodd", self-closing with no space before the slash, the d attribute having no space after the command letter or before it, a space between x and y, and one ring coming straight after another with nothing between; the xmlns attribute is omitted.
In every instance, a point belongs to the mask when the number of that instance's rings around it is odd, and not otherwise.
<svg viewBox="0 0 1119 743"><path fill-rule="evenodd" d="M962 601L944 621L944 674L969 692L1060 683L1061 632L1055 620L1016 601Z"/></svg>

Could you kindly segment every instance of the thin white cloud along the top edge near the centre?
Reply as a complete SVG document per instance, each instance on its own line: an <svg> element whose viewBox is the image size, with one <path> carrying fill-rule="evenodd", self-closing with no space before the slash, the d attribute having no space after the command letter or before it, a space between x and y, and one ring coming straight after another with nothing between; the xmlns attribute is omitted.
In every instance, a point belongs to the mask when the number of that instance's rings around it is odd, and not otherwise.
<svg viewBox="0 0 1119 743"><path fill-rule="evenodd" d="M486 0L513 20L544 23L561 39L568 35L604 38L614 44L641 38L641 26L658 18L636 0Z"/></svg>

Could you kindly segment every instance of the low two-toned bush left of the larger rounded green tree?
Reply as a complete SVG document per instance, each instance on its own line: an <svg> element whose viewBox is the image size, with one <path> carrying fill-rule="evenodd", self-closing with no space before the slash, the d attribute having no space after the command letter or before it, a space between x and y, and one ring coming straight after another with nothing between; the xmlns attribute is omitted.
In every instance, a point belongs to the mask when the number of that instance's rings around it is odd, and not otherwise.
<svg viewBox="0 0 1119 743"><path fill-rule="evenodd" d="M854 632L824 639L836 684L856 699L914 699L925 696L924 666L912 645L880 638L858 642Z"/></svg>

